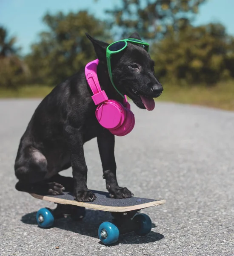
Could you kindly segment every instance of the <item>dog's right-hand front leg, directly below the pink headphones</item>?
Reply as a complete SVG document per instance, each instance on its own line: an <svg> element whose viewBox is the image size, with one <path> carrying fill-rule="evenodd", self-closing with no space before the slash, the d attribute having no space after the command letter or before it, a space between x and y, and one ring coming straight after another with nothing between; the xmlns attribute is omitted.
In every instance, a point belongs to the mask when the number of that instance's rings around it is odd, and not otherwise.
<svg viewBox="0 0 234 256"><path fill-rule="evenodd" d="M103 178L106 188L113 198L130 198L133 194L126 187L118 185L116 177L116 163L114 158L114 135L108 130L97 137L97 144L103 166Z"/></svg>

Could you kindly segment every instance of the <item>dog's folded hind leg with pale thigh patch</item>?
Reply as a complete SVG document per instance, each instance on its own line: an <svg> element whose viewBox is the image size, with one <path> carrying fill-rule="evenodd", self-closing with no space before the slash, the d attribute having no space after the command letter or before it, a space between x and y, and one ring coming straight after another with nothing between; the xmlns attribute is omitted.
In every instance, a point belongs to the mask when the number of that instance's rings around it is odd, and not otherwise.
<svg viewBox="0 0 234 256"><path fill-rule="evenodd" d="M19 149L14 169L19 179L15 188L19 191L59 195L64 190L60 183L45 180L48 173L46 157L32 146Z"/></svg>

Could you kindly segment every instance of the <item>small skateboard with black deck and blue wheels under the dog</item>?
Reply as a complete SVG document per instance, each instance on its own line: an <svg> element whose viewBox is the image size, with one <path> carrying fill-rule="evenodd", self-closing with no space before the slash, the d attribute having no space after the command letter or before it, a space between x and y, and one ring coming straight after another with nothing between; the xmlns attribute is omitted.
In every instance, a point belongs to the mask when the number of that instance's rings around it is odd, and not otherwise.
<svg viewBox="0 0 234 256"><path fill-rule="evenodd" d="M53 226L55 219L68 216L75 221L80 221L85 217L86 208L111 212L113 220L100 224L98 237L103 244L114 244L123 233L135 231L137 235L146 236L151 231L151 219L139 211L166 203L166 200L138 197L116 199L111 198L108 192L96 190L92 190L92 192L97 196L94 202L77 202L70 192L63 192L62 195L30 194L34 198L57 204L57 208L54 210L42 208L37 212L38 226L49 228Z"/></svg>

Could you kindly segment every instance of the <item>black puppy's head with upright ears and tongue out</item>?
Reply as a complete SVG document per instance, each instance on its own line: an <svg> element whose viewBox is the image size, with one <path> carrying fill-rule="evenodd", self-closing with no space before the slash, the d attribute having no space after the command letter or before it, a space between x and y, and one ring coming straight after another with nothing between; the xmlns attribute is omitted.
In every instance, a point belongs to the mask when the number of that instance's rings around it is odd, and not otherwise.
<svg viewBox="0 0 234 256"><path fill-rule="evenodd" d="M92 42L100 63L106 65L107 69L108 44L86 35ZM129 38L140 39L140 36L134 33ZM154 61L146 49L140 44L128 42L123 51L111 55L111 70L114 85L122 94L126 94L139 108L154 108L153 98L161 95L163 87L154 75Z"/></svg>

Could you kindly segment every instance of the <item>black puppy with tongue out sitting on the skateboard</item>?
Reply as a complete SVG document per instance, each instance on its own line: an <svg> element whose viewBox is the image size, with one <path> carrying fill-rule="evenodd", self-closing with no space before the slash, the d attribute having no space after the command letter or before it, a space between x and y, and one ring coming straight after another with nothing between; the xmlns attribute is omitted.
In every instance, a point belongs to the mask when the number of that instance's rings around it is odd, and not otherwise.
<svg viewBox="0 0 234 256"><path fill-rule="evenodd" d="M106 64L107 43L91 38L99 64L97 75L102 90L109 99L123 102L111 85ZM140 39L137 33L129 38ZM111 57L113 81L122 94L126 94L139 107L146 109L140 96L158 97L163 87L154 76L154 61L140 45L128 43L120 53ZM96 119L92 92L84 69L58 84L35 110L23 134L15 160L15 175L19 179L16 189L38 194L58 195L73 191L77 201L93 201L95 195L88 190L87 166L83 145L97 137L103 166L103 178L111 197L128 198L133 195L120 187L116 178L114 135ZM72 167L72 177L58 173Z"/></svg>

